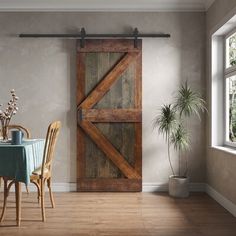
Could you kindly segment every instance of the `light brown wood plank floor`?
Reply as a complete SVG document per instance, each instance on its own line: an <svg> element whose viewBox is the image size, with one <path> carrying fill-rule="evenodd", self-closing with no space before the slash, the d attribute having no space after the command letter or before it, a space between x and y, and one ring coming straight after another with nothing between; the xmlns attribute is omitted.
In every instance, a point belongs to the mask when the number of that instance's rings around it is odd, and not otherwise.
<svg viewBox="0 0 236 236"><path fill-rule="evenodd" d="M42 223L35 193L23 194L17 228L12 193L0 236L236 236L236 218L206 194L173 199L157 193L57 193L55 200Z"/></svg>

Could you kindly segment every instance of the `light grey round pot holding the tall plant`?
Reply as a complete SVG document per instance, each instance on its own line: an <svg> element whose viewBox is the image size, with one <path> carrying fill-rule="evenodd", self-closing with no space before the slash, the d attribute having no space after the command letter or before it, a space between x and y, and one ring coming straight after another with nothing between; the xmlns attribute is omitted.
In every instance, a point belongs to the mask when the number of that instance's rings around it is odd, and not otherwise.
<svg viewBox="0 0 236 236"><path fill-rule="evenodd" d="M176 198L187 198L189 178L184 176L171 175L169 177L169 195Z"/></svg>

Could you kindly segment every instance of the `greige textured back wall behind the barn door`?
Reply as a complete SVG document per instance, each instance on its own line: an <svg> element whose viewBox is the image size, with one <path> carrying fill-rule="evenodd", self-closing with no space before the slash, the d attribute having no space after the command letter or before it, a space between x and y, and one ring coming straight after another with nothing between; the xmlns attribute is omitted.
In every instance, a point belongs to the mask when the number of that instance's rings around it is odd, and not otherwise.
<svg viewBox="0 0 236 236"><path fill-rule="evenodd" d="M15 122L43 137L52 120L63 123L54 164L56 182L76 180L75 40L19 39L18 33L65 33L85 27L91 33L166 32L170 39L143 40L143 179L166 183L166 146L152 120L188 79L205 93L204 13L0 13L0 101L15 88L20 110ZM205 180L204 124L193 120L190 173ZM175 163L176 164L176 163Z"/></svg>

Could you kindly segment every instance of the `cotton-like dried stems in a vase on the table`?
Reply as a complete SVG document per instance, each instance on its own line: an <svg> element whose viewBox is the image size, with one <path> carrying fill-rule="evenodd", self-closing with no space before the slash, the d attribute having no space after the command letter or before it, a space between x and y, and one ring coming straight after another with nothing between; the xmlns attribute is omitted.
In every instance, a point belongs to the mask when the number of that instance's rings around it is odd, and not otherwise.
<svg viewBox="0 0 236 236"><path fill-rule="evenodd" d="M7 132L7 126L9 125L11 118L13 115L16 114L18 111L17 107L17 101L19 100L19 97L16 96L15 90L12 89L10 91L11 93L11 100L8 102L8 106L5 109L5 111L1 110L2 104L0 104L0 122L1 122L1 131L2 131L2 137L3 140L6 141L8 140L8 132Z"/></svg>

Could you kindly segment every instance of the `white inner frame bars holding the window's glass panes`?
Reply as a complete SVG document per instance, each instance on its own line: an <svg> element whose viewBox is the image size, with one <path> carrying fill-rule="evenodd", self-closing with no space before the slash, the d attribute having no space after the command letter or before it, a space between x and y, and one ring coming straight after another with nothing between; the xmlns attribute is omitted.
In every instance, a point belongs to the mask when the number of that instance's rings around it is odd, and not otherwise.
<svg viewBox="0 0 236 236"><path fill-rule="evenodd" d="M223 83L223 97L224 97L224 145L226 146L230 146L230 147L234 147L236 148L236 142L230 142L229 141L229 102L228 102L228 83L227 83L227 79L232 77L232 76L236 76L236 65L233 65L231 67L227 68L227 60L228 60L228 55L227 55L227 40L230 38L230 36L232 36L233 34L236 34L236 28L234 28L233 30L231 30L229 33L227 33L224 36L224 46L223 46L223 55L224 55L224 59L223 59L223 79L224 79L224 83Z"/></svg>

